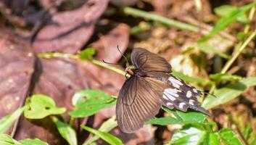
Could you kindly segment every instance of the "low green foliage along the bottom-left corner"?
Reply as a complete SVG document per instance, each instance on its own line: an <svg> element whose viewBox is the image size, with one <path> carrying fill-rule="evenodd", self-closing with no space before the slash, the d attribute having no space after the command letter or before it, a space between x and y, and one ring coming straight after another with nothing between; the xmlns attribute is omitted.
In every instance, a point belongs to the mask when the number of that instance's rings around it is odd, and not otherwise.
<svg viewBox="0 0 256 145"><path fill-rule="evenodd" d="M1 145L48 145L46 142L36 139L23 139L16 141L7 134L0 134L0 144Z"/></svg>

